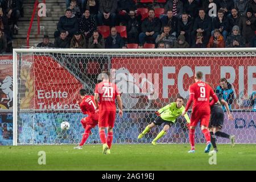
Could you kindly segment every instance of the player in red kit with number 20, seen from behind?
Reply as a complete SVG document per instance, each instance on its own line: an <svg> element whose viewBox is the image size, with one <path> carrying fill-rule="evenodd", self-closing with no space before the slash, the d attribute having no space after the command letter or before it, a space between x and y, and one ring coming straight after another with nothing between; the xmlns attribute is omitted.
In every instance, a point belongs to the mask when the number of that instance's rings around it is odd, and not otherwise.
<svg viewBox="0 0 256 182"><path fill-rule="evenodd" d="M110 148L113 141L113 127L115 122L115 98L119 107L119 116L123 115L122 100L118 92L117 85L110 82L109 72L101 73L102 82L96 85L94 91L94 101L96 108L99 107L98 98L100 98L98 127L100 128L100 139L103 144L103 154L110 154ZM108 137L106 138L105 129L108 127Z"/></svg>

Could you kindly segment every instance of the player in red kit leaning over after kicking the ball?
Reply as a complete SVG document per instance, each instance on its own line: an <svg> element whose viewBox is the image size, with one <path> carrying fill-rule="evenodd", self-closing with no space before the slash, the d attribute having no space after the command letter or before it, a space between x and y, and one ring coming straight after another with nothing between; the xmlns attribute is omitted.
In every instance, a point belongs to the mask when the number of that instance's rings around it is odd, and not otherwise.
<svg viewBox="0 0 256 182"><path fill-rule="evenodd" d="M82 111L82 114L87 114L88 117L82 118L80 121L85 131L84 131L84 134L82 135L82 140L79 146L74 147L74 149L82 149L82 146L88 139L89 135L92 133L90 130L92 130L93 127L98 125L98 110L96 109L94 97L87 96L86 95L87 93L88 92L85 89L80 90L80 97L82 101L79 106Z"/></svg>

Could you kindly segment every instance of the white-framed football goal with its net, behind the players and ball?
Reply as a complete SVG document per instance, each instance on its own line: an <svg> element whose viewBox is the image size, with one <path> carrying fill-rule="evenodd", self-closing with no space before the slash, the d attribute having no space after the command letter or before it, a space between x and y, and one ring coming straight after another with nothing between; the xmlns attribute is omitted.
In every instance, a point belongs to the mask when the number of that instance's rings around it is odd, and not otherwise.
<svg viewBox="0 0 256 182"><path fill-rule="evenodd" d="M187 103L193 75L204 81L229 103L233 121L222 130L236 135L237 143L256 143L256 49L14 49L13 110L14 144L75 144L84 129L80 120L79 90L93 94L108 70L121 92L124 114L116 116L113 143L150 143L163 129L137 137L156 118L155 111L178 96ZM228 81L220 87L221 78ZM222 85L223 86L223 85ZM217 91L218 92L218 91ZM188 114L191 114L189 110ZM68 121L63 131L60 123ZM98 127L87 143L100 143ZM179 117L160 143L188 143L185 119ZM205 139L196 129L196 143ZM229 139L218 138L218 143Z"/></svg>

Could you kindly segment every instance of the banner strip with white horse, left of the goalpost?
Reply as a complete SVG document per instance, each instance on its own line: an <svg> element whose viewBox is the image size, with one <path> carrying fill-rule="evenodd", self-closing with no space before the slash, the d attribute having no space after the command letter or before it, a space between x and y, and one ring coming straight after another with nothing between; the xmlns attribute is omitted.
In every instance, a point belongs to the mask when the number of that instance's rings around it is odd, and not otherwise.
<svg viewBox="0 0 256 182"><path fill-rule="evenodd" d="M0 56L0 109L13 107L13 56Z"/></svg>

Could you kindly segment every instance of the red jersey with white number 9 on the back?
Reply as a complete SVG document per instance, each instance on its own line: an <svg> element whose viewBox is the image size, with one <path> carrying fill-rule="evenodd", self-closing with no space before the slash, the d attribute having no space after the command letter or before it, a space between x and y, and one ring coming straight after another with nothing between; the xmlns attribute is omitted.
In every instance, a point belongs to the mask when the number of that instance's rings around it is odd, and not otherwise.
<svg viewBox="0 0 256 182"><path fill-rule="evenodd" d="M193 97L192 97L193 95ZM203 81L197 81L195 84L189 86L189 101L187 103L185 111L187 111L192 104L191 97L193 98L192 111L209 110L210 102L209 97L217 97L213 92L213 89L207 83Z"/></svg>

